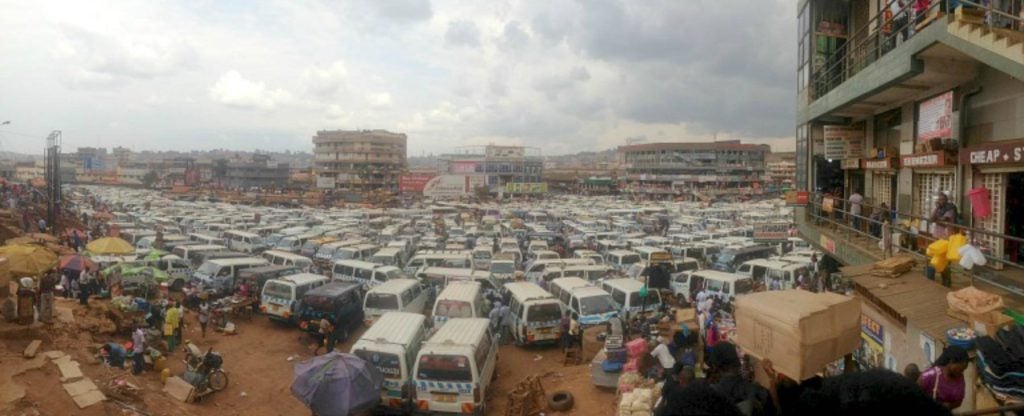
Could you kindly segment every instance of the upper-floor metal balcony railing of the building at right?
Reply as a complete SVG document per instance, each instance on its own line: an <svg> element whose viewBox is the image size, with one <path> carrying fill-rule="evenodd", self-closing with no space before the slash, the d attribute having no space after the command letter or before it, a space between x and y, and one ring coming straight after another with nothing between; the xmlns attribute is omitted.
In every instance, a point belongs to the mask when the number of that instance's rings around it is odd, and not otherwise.
<svg viewBox="0 0 1024 416"><path fill-rule="evenodd" d="M1024 30L1024 19L993 8L991 2L981 4L967 0L933 1L927 8L921 10L913 10L914 3L914 1L906 1L905 5L892 11L893 5L899 3L897 0L890 0L883 6L882 11L868 18L864 25L855 31L847 31L847 34L844 35L847 39L846 43L839 46L826 58L824 67L812 68L812 74L809 77L811 98L820 98L880 57L896 49L902 42L912 38L916 33L916 26L926 22L928 15L933 12L951 13L958 6L970 7L985 10L984 25L989 29ZM1010 4L1011 7L1019 7L1016 2ZM999 18L995 18L996 16ZM1000 20L1009 23L1005 24ZM923 26L922 29L927 26ZM813 49L816 44L816 41L812 42L811 48ZM808 50L807 53L813 56L816 52ZM813 63L813 57L809 57L809 59Z"/></svg>

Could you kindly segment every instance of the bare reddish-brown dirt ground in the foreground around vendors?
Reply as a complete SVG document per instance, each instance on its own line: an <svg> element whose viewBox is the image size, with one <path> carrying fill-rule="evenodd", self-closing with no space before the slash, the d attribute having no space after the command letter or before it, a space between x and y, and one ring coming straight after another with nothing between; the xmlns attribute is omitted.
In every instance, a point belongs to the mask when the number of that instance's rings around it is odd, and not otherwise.
<svg viewBox="0 0 1024 416"><path fill-rule="evenodd" d="M93 301L95 307L95 303ZM229 382L224 391L214 393L199 404L184 404L162 391L159 374L146 372L135 377L127 370L110 369L91 356L90 347L111 340L94 333L92 327L82 325L89 322L82 316L83 308L77 303L58 300L58 307L74 308L76 324L54 324L29 334L0 335L0 366L5 362L25 360L22 351L34 338L44 339L40 351L62 350L81 363L82 372L101 388L115 377L124 377L141 387L136 394L119 397L101 404L78 409L62 389L56 366L47 363L39 369L30 369L13 376L14 383L25 386L25 398L4 407L3 415L197 415L197 416L276 416L307 415L309 411L290 392L293 364L311 357L311 349L300 340L300 332L295 328L270 322L263 317L251 321L238 322L238 335L224 335L209 331L204 339L195 314L186 319L185 338L191 339L204 350L210 346L224 357L224 369ZM84 329L83 329L84 327ZM358 334L339 346L347 351ZM126 336L116 338L127 340ZM291 361L289 359L292 359ZM175 351L168 359L171 372L180 375L184 365L182 353ZM542 376L542 383L548 394L557 390L568 390L574 397L575 406L567 413L547 414L611 415L614 411L615 393L599 389L590 383L590 368L562 365L562 355L558 347L517 347L502 346L499 351L498 376L487 394L487 414L503 415L509 391L528 375ZM137 411L137 413L133 413Z"/></svg>

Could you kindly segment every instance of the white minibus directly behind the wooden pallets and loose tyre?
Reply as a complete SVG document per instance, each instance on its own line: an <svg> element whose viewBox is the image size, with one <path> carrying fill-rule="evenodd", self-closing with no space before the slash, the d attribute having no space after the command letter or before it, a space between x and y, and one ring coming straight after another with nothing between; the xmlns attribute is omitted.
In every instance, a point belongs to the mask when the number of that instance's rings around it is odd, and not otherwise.
<svg viewBox="0 0 1024 416"><path fill-rule="evenodd" d="M562 306L557 298L529 282L508 283L505 290L509 294L509 318L516 344L558 341Z"/></svg>

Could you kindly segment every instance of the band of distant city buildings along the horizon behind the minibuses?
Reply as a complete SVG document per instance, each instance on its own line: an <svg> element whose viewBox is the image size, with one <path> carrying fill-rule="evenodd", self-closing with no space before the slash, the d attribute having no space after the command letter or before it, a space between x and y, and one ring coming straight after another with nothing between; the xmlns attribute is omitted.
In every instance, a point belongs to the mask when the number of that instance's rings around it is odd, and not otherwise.
<svg viewBox="0 0 1024 416"><path fill-rule="evenodd" d="M62 183L157 189L330 191L349 202L378 194L460 198L578 193L642 198L760 195L792 188L794 153L739 140L651 142L600 152L544 156L516 145L454 148L409 156L408 137L387 130L322 130L311 151L211 150L135 152L126 148L63 150ZM44 180L41 158L0 154L0 177Z"/></svg>

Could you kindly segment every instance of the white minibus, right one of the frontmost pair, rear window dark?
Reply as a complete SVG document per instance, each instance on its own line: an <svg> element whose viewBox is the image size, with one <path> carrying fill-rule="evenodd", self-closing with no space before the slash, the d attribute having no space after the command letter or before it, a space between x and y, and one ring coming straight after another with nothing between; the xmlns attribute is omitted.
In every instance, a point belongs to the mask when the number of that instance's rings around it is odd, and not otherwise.
<svg viewBox="0 0 1024 416"><path fill-rule="evenodd" d="M413 371L415 411L486 414L498 364L489 325L485 319L456 318L423 343Z"/></svg>

